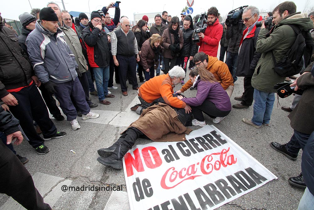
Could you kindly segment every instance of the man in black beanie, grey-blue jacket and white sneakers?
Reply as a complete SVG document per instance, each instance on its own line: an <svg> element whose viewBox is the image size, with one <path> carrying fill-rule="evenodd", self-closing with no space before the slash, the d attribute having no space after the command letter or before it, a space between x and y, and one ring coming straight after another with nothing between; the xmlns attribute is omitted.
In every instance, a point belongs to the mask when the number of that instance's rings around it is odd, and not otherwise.
<svg viewBox="0 0 314 210"><path fill-rule="evenodd" d="M86 102L81 83L78 80L78 64L75 56L62 36L65 34L59 28L58 17L50 7L41 9L40 23L26 39L31 64L39 80L50 94L55 94L67 120L71 121L72 129L80 127L77 111L71 101L82 112L82 119L97 118L99 114L90 111Z"/></svg>

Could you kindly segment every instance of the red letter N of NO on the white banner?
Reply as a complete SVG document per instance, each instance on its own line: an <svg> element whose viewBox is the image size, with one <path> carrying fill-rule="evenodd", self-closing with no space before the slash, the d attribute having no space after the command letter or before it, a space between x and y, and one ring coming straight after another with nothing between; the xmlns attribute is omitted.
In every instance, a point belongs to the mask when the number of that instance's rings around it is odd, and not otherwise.
<svg viewBox="0 0 314 210"><path fill-rule="evenodd" d="M134 154L134 158L129 152L127 152L127 154L125 154L124 156L125 167L127 170L127 177L133 176L134 174L133 167L138 172L144 171L142 159L141 159L141 156L139 155L138 148L133 151L133 154Z"/></svg>

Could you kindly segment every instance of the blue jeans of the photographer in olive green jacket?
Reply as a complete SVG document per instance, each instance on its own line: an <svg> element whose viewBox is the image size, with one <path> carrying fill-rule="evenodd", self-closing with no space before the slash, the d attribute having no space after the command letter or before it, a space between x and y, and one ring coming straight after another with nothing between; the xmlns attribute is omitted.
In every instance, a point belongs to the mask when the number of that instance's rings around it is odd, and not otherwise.
<svg viewBox="0 0 314 210"><path fill-rule="evenodd" d="M228 53L229 55L229 53ZM260 91L254 88L254 105L252 122L256 125L268 124L273 111L275 94Z"/></svg>

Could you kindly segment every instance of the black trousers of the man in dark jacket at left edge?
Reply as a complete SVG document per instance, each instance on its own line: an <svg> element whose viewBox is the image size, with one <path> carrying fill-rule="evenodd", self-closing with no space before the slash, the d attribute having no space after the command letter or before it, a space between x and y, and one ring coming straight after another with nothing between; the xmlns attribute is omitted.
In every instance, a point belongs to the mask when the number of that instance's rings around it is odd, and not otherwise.
<svg viewBox="0 0 314 210"><path fill-rule="evenodd" d="M19 105L9 106L10 111L19 120L32 147L44 144L44 140L36 133L33 120L39 125L44 138L51 138L57 133L57 128L49 118L44 100L35 84L11 94L18 100Z"/></svg>

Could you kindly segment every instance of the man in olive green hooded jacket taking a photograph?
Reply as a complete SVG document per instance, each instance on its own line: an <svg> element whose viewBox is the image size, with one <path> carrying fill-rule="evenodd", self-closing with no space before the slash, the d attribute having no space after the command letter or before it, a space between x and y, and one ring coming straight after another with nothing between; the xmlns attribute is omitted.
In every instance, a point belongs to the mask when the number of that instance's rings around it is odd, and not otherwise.
<svg viewBox="0 0 314 210"><path fill-rule="evenodd" d="M256 50L262 53L252 76L254 88L254 105L252 120L243 118L242 121L255 128L268 125L275 101L275 89L278 82L284 82L285 77L279 76L274 70L272 55L279 62L295 42L297 34L288 25L293 24L301 30L313 28L313 22L306 14L295 13L293 2L283 2L273 10L273 22L276 24L271 31L265 28L264 20L258 34Z"/></svg>

